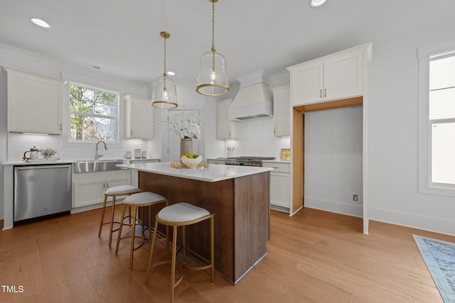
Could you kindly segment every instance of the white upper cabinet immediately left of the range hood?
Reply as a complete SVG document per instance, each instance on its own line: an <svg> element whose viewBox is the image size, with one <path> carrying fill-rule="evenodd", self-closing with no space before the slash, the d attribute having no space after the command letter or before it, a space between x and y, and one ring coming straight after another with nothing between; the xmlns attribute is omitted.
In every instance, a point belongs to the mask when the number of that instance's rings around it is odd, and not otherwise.
<svg viewBox="0 0 455 303"><path fill-rule="evenodd" d="M216 106L216 138L218 140L238 140L239 123L229 119L229 106L232 99L217 102Z"/></svg>

